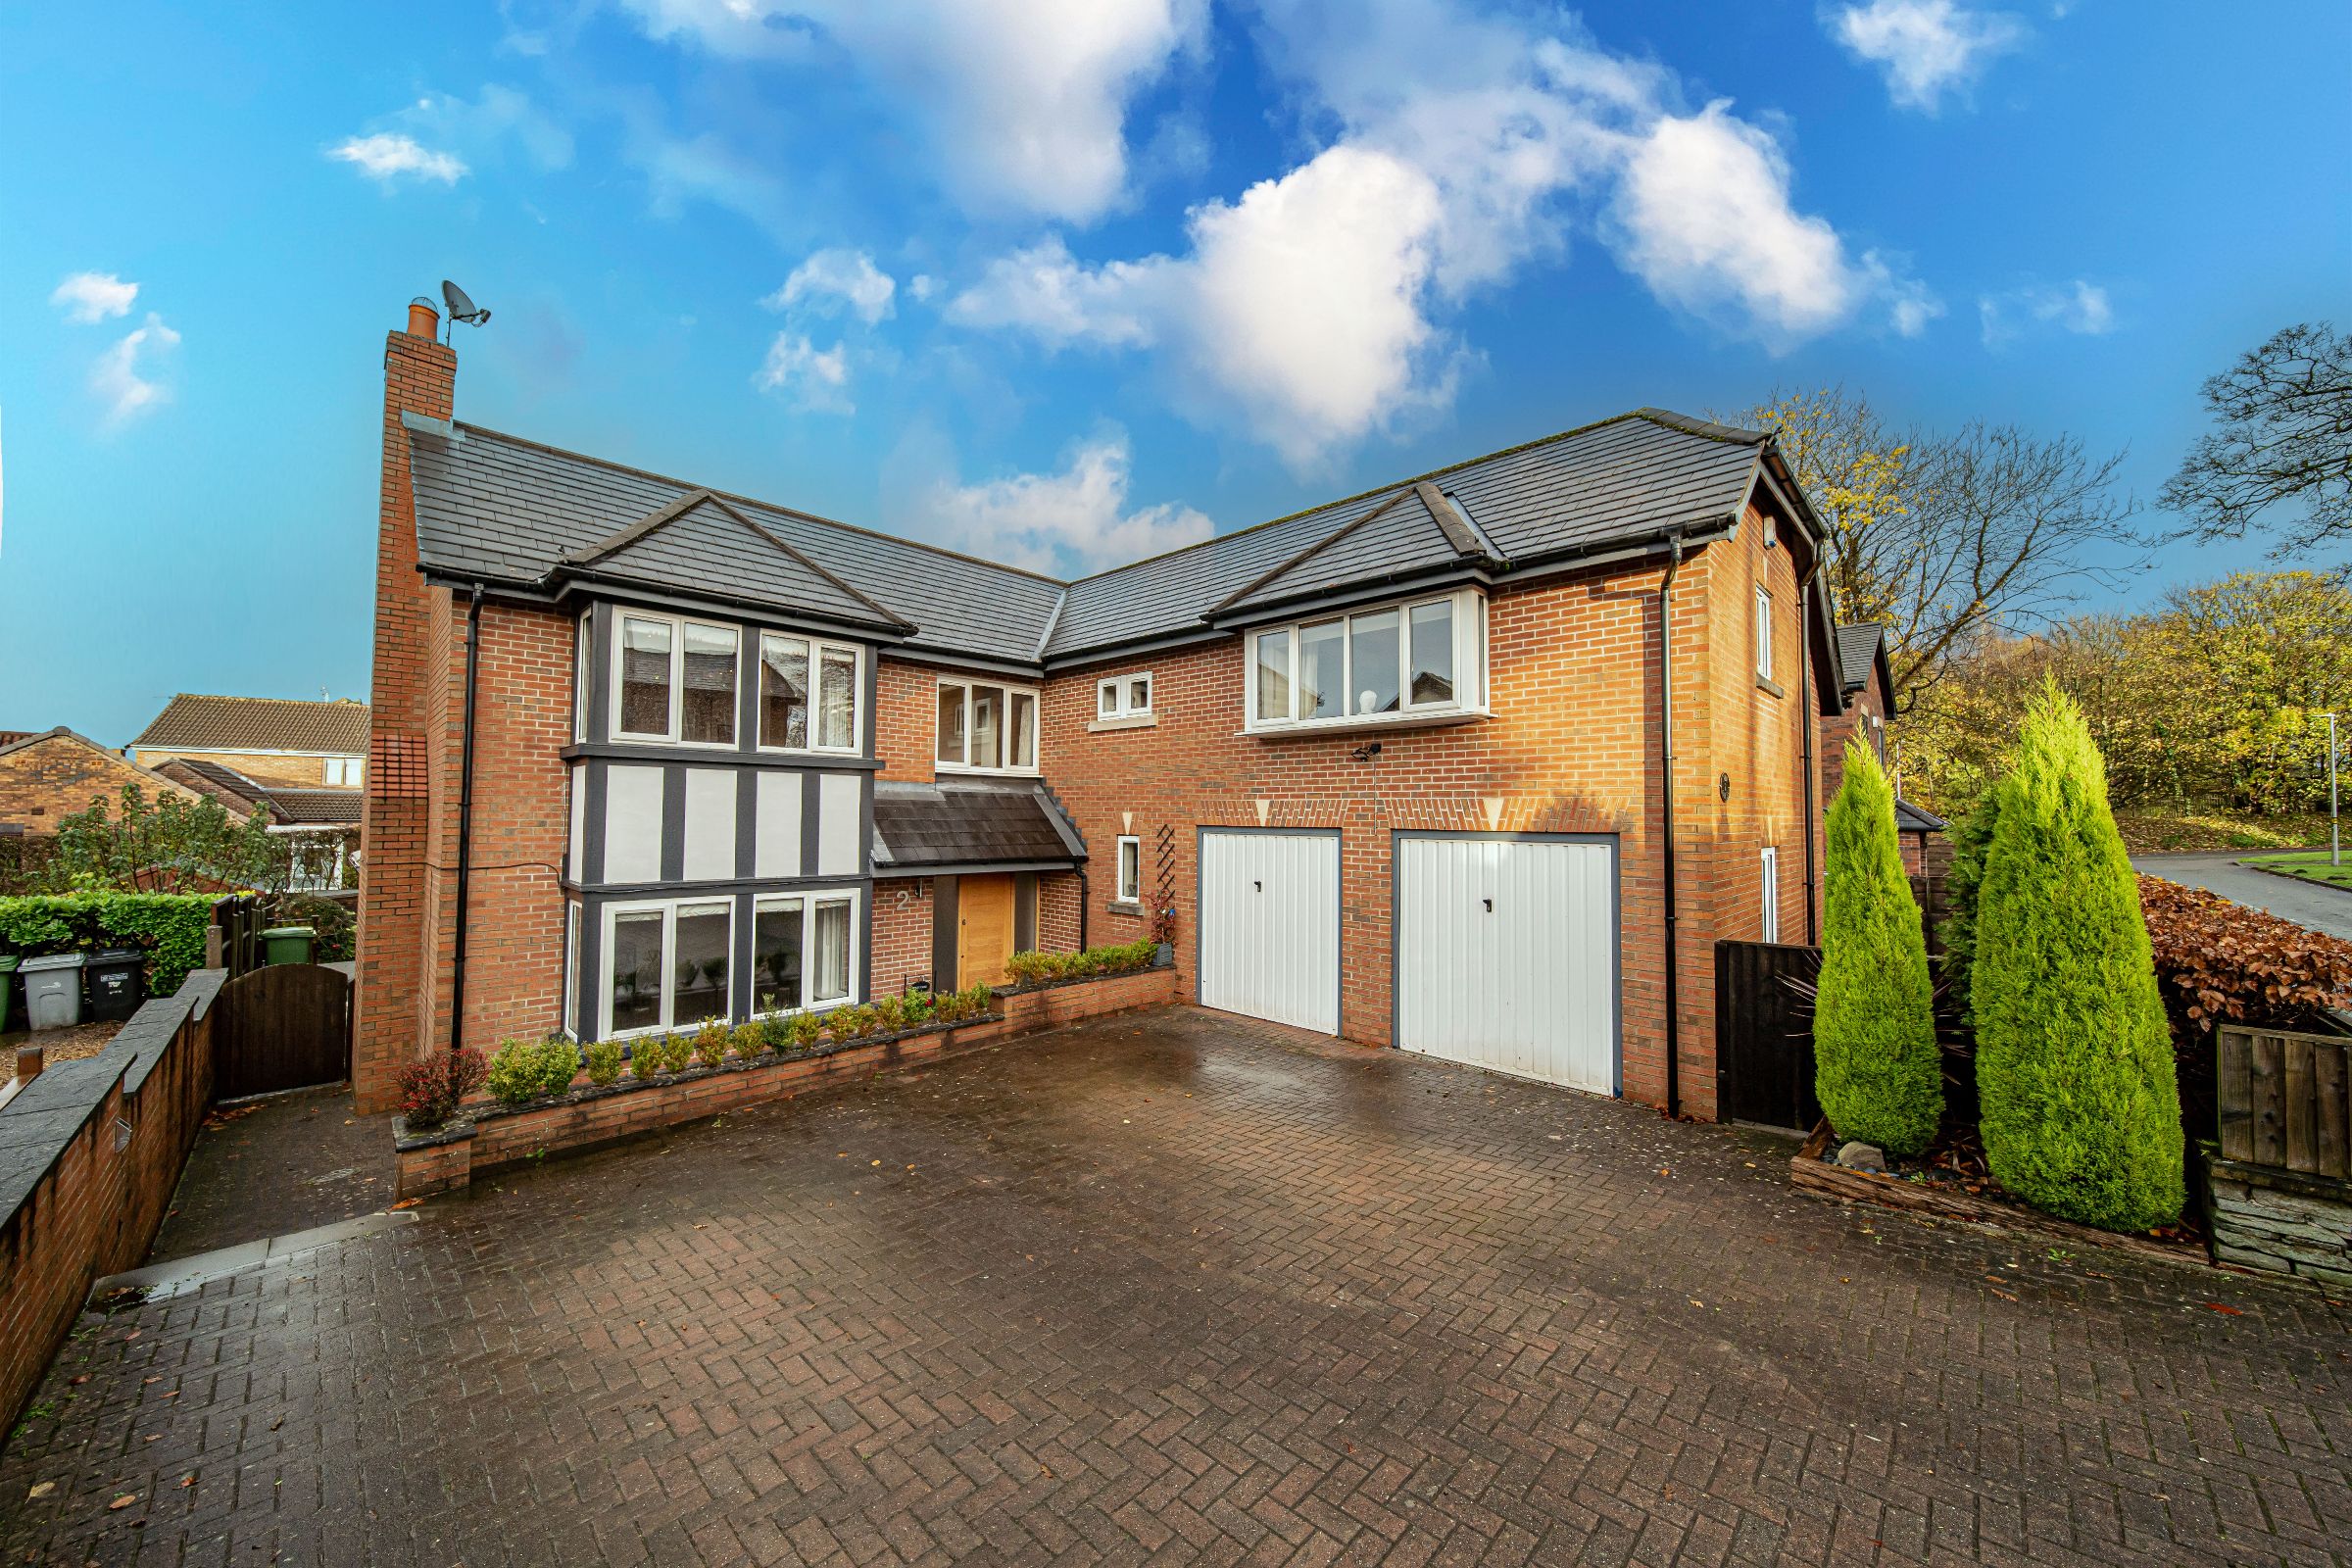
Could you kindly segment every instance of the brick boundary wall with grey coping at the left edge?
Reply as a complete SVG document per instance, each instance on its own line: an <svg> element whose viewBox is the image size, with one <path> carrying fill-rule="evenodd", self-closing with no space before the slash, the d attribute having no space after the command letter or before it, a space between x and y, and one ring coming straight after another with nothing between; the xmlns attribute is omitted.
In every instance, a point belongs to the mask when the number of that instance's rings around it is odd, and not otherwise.
<svg viewBox="0 0 2352 1568"><path fill-rule="evenodd" d="M0 1413L14 1425L92 1281L139 1267L212 1105L202 969L148 1001L96 1056L0 1105Z"/></svg>

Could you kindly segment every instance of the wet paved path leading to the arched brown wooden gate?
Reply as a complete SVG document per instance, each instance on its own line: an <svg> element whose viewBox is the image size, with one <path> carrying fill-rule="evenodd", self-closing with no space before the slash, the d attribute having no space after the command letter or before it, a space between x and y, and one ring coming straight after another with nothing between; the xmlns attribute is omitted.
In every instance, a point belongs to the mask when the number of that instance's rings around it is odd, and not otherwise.
<svg viewBox="0 0 2352 1568"><path fill-rule="evenodd" d="M355 1114L348 1086L216 1107L148 1262L353 1220L390 1201L390 1117Z"/></svg>

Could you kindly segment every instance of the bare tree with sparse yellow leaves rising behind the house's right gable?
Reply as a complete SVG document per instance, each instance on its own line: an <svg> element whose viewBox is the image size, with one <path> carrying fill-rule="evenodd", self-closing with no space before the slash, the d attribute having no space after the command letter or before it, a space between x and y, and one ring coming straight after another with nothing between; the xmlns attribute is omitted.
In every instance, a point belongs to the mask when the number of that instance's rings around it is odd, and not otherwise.
<svg viewBox="0 0 2352 1568"><path fill-rule="evenodd" d="M1828 529L1823 583L1844 621L1886 625L1903 708L1976 637L2013 635L2119 585L2143 559L2122 454L2072 435L1969 423L1900 430L1844 388L1733 416L1773 430Z"/></svg>

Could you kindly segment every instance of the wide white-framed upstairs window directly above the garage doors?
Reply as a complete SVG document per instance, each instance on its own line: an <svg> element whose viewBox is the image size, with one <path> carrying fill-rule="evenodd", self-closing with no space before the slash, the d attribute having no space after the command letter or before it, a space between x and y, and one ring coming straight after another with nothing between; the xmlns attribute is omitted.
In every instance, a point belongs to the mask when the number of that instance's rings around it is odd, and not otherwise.
<svg viewBox="0 0 2352 1568"><path fill-rule="evenodd" d="M1244 649L1254 731L1486 710L1486 599L1475 590L1251 628Z"/></svg>

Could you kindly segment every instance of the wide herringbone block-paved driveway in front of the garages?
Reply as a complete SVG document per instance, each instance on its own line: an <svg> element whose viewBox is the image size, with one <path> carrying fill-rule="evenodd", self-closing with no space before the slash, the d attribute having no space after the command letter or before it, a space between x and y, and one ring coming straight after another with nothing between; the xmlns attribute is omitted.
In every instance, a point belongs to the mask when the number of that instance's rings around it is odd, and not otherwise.
<svg viewBox="0 0 2352 1568"><path fill-rule="evenodd" d="M7 1561L2352 1549L2310 1288L1842 1211L1759 1135L1188 1009L421 1213L85 1316Z"/></svg>

